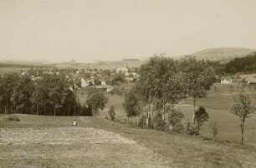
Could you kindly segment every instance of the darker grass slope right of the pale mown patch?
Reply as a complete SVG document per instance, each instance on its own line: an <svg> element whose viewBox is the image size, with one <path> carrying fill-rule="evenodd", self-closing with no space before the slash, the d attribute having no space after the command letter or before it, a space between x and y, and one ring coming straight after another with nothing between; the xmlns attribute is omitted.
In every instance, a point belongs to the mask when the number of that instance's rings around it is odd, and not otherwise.
<svg viewBox="0 0 256 168"><path fill-rule="evenodd" d="M86 120L87 126L114 131L150 148L174 167L254 167L255 147L205 141L203 138L172 135L162 131L125 126L102 118Z"/></svg>

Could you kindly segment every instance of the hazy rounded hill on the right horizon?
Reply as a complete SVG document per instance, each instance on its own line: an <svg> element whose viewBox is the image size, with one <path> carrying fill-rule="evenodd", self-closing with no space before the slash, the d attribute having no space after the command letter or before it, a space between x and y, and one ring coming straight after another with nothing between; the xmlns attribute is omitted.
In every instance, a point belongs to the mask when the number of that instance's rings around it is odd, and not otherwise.
<svg viewBox="0 0 256 168"><path fill-rule="evenodd" d="M219 47L207 48L205 50L193 53L192 56L197 59L205 59L211 61L228 62L236 57L246 57L255 50L244 47Z"/></svg>

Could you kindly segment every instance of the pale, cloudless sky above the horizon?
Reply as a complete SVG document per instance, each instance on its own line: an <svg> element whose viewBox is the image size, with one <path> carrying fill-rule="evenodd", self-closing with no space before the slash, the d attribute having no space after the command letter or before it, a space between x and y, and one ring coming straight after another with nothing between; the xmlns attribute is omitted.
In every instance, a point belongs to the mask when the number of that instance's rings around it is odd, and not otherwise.
<svg viewBox="0 0 256 168"><path fill-rule="evenodd" d="M0 60L79 62L256 48L255 0L0 0Z"/></svg>

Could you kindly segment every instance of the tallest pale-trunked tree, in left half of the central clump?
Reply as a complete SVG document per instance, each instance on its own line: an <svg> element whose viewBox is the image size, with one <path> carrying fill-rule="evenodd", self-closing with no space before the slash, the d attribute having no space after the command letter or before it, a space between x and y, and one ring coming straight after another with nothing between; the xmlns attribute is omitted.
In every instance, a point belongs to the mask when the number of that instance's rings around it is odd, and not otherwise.
<svg viewBox="0 0 256 168"><path fill-rule="evenodd" d="M141 95L141 101L146 105L146 126L149 126L149 117L153 121L154 111L157 107L161 108L163 113L165 105L170 96L172 95L172 88L169 89L172 84L172 78L177 73L176 62L166 57L165 53L160 56L155 55L151 57L148 62L140 67L140 78L137 82L137 86L140 88L138 91ZM170 91L170 92L169 92ZM167 92L167 93L166 93ZM167 96L166 96L167 95ZM153 122L151 122L153 128Z"/></svg>

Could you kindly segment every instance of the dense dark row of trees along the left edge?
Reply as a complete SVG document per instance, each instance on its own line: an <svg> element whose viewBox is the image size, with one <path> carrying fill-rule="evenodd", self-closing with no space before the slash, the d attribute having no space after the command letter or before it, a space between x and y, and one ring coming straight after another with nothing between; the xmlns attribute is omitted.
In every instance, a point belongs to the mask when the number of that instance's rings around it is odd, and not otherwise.
<svg viewBox="0 0 256 168"><path fill-rule="evenodd" d="M0 82L0 111L54 116L85 112L69 86L64 76L44 74L35 81L16 73L6 74Z"/></svg>

